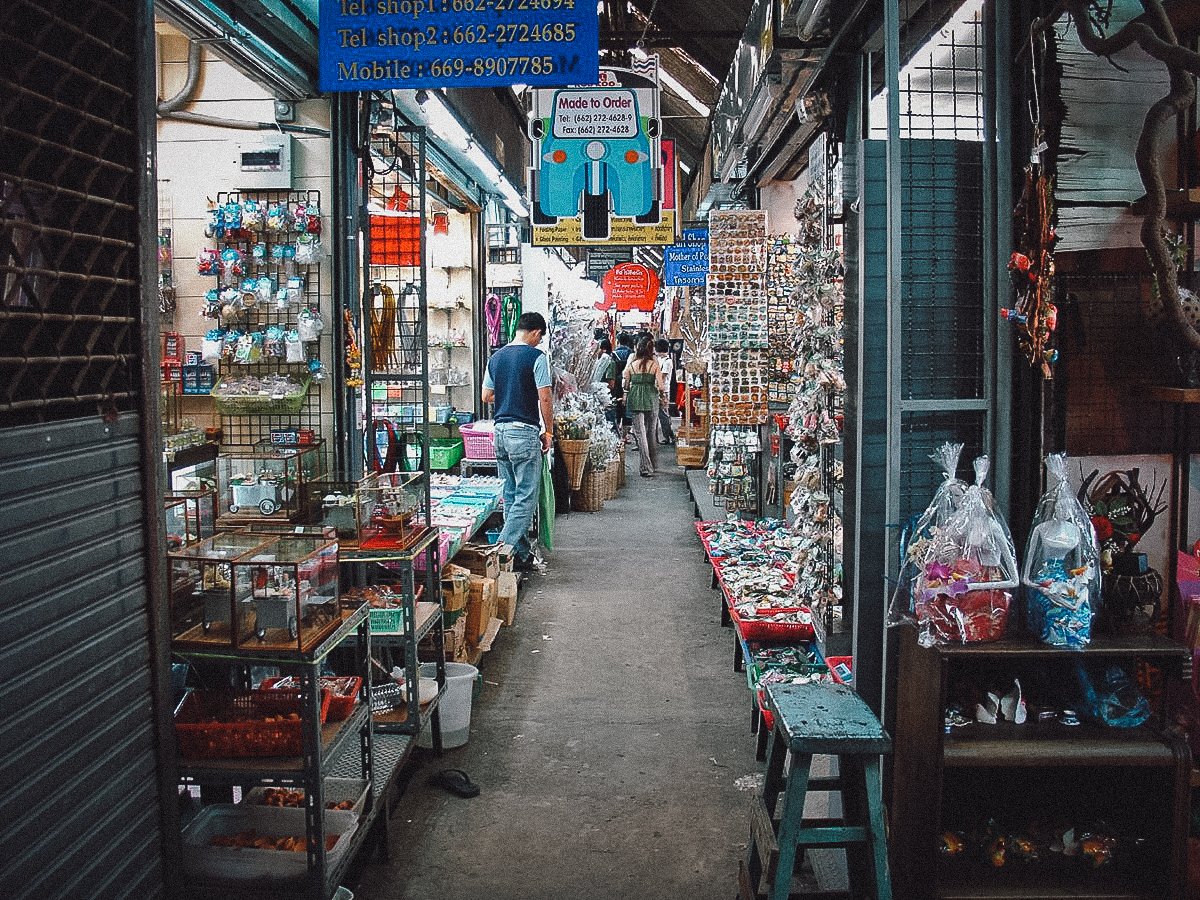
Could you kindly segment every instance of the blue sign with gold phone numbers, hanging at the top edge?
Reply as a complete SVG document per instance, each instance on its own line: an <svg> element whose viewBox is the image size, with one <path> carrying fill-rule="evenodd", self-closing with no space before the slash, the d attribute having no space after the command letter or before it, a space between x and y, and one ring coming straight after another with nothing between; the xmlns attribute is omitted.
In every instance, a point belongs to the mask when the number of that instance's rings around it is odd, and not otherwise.
<svg viewBox="0 0 1200 900"><path fill-rule="evenodd" d="M589 0L320 0L323 91L592 84Z"/></svg>

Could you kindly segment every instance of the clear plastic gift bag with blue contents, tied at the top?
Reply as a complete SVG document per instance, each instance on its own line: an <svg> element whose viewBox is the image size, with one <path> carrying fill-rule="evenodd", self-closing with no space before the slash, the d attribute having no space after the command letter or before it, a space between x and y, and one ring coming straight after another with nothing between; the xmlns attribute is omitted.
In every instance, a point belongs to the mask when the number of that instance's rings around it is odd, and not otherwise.
<svg viewBox="0 0 1200 900"><path fill-rule="evenodd" d="M1055 647L1082 649L1100 601L1099 544L1067 480L1066 455L1051 454L1045 468L1021 574L1030 630Z"/></svg>

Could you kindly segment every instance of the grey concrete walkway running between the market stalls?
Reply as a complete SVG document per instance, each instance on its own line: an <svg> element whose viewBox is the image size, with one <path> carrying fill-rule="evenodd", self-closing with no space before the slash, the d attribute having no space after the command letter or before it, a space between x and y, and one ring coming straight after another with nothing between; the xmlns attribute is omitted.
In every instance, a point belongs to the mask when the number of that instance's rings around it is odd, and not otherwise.
<svg viewBox="0 0 1200 900"><path fill-rule="evenodd" d="M414 762L390 859L358 900L730 900L754 758L745 678L673 448L600 512L556 522L550 571L480 670L469 743ZM439 768L480 786L460 799Z"/></svg>

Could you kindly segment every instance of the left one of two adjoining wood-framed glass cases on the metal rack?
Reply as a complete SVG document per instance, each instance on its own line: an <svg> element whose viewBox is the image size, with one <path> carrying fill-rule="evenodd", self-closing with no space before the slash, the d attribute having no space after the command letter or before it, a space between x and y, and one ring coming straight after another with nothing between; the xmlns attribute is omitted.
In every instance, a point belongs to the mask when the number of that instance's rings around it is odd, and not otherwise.
<svg viewBox="0 0 1200 900"><path fill-rule="evenodd" d="M274 540L262 534L217 534L167 553L170 636L176 646L212 649L238 644L230 566Z"/></svg>

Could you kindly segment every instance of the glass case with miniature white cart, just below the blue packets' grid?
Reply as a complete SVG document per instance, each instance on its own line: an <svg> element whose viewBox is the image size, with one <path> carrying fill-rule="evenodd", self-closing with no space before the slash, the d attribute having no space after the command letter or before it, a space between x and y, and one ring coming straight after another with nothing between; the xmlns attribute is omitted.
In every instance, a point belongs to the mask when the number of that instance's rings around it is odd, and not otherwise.
<svg viewBox="0 0 1200 900"><path fill-rule="evenodd" d="M272 446L269 440L227 449L217 457L222 527L247 520L295 521L305 486L320 474L320 442L311 446Z"/></svg>

